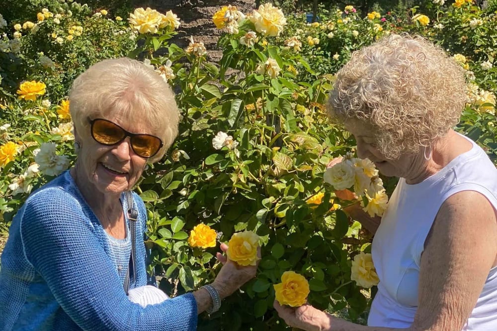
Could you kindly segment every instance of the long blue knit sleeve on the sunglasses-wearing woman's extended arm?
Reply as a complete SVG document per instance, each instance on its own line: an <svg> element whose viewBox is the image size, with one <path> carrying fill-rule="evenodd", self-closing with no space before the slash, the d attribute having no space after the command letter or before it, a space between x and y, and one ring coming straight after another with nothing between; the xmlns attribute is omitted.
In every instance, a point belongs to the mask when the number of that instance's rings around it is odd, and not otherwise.
<svg viewBox="0 0 497 331"><path fill-rule="evenodd" d="M146 308L128 300L93 224L69 193L51 188L32 195L21 236L26 259L83 330L196 330L192 294Z"/></svg>

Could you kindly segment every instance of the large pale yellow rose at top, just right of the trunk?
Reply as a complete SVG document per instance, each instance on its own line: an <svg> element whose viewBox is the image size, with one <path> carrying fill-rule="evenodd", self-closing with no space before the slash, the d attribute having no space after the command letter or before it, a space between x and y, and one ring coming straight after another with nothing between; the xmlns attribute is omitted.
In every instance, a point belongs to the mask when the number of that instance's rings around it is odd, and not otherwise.
<svg viewBox="0 0 497 331"><path fill-rule="evenodd" d="M261 4L259 9L254 9L250 21L255 25L255 31L264 36L279 36L286 25L283 11L271 3Z"/></svg>

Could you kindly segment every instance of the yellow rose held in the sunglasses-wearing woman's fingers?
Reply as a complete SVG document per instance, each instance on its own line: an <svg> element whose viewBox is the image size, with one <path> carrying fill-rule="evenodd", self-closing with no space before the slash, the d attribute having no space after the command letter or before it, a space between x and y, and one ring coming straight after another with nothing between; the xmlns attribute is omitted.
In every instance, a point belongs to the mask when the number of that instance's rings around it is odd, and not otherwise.
<svg viewBox="0 0 497 331"><path fill-rule="evenodd" d="M233 234L228 242L228 259L239 265L256 265L257 248L259 247L259 236L252 231L244 231Z"/></svg>

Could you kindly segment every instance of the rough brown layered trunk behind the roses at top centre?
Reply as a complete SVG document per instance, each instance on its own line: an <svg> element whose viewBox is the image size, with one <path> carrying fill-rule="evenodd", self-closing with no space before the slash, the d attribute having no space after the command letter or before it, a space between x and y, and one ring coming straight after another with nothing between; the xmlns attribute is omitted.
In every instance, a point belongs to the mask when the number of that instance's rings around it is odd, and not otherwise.
<svg viewBox="0 0 497 331"><path fill-rule="evenodd" d="M223 5L236 5L243 13L255 8L255 0L141 0L138 6L151 7L161 12L172 10L181 20L178 34L171 40L181 48L188 46L188 38L203 42L209 51L209 61L217 62L221 51L216 47L221 31L212 22L212 16Z"/></svg>

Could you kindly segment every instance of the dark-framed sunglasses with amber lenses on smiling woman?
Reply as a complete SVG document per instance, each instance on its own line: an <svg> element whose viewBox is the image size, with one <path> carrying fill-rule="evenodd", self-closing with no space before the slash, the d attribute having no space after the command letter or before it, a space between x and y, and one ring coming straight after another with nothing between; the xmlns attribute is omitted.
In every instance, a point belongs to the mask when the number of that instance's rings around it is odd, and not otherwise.
<svg viewBox="0 0 497 331"><path fill-rule="evenodd" d="M131 133L104 119L90 120L90 124L91 136L95 141L103 145L115 145L129 137L131 148L141 157L152 157L163 146L162 140L155 135Z"/></svg>

